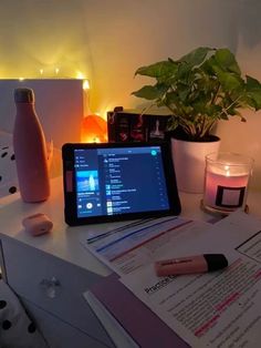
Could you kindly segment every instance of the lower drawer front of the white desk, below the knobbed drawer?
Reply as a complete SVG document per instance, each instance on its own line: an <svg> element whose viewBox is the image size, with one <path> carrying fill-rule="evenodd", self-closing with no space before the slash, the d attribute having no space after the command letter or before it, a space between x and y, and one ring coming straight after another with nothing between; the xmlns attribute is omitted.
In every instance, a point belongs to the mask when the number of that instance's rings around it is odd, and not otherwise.
<svg viewBox="0 0 261 348"><path fill-rule="evenodd" d="M35 321L38 329L50 348L107 348L103 342L93 339L74 327L64 324L46 311L22 300L29 316Z"/></svg>

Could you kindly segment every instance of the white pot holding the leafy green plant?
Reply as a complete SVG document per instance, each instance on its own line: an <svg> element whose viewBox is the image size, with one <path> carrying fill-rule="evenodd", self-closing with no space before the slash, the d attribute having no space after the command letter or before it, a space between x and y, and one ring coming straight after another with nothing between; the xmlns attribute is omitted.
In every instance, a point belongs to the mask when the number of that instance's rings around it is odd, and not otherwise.
<svg viewBox="0 0 261 348"><path fill-rule="evenodd" d="M171 139L173 161L179 191L203 192L206 156L218 152L219 146L219 137L212 142L188 142Z"/></svg>

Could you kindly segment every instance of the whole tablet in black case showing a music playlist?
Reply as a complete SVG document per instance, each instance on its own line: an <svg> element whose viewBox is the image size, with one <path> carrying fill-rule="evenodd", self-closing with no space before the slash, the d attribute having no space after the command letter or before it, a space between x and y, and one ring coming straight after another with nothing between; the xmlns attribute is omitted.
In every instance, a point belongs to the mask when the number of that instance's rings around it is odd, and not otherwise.
<svg viewBox="0 0 261 348"><path fill-rule="evenodd" d="M71 226L180 213L169 143L64 144L62 156Z"/></svg>

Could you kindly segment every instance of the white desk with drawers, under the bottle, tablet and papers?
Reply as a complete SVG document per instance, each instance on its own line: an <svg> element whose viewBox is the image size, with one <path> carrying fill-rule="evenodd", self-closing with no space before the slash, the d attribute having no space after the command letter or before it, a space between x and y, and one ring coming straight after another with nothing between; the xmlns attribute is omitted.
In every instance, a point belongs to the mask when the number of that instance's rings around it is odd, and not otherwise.
<svg viewBox="0 0 261 348"><path fill-rule="evenodd" d="M180 194L180 199L182 216L213 218L200 209L201 195ZM249 194L251 214L261 216L260 203L261 193ZM45 213L52 219L51 234L31 237L22 229L22 218L35 213ZM80 244L80 236L86 231L106 231L107 224L69 227L63 219L61 178L52 181L48 202L25 204L19 194L1 199L0 221L4 277L35 318L50 346L114 347L82 295L111 270ZM53 277L60 285L55 285Z"/></svg>

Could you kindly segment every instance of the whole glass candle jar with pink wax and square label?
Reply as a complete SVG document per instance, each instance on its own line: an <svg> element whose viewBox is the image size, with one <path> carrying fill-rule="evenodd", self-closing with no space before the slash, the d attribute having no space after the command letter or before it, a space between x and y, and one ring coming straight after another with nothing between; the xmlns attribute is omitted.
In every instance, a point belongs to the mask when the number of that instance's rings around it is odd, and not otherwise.
<svg viewBox="0 0 261 348"><path fill-rule="evenodd" d="M241 154L220 152L207 155L203 207L223 214L244 209L252 168L253 160Z"/></svg>

